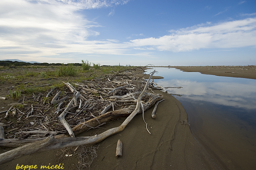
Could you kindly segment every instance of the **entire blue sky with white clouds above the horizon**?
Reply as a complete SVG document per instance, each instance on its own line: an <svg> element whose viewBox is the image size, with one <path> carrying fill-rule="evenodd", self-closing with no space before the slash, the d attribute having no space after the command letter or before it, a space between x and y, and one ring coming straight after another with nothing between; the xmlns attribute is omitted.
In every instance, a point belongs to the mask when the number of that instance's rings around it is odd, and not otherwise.
<svg viewBox="0 0 256 170"><path fill-rule="evenodd" d="M256 1L1 0L4 59L256 65Z"/></svg>

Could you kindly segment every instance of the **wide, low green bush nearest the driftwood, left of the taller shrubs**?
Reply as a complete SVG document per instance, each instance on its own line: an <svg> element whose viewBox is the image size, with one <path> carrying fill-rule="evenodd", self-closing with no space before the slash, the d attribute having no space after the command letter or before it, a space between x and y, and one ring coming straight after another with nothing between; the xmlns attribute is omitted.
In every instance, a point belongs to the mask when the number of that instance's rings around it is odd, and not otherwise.
<svg viewBox="0 0 256 170"><path fill-rule="evenodd" d="M59 68L55 70L55 76L74 76L78 72L77 67L73 64L64 65L62 64Z"/></svg>

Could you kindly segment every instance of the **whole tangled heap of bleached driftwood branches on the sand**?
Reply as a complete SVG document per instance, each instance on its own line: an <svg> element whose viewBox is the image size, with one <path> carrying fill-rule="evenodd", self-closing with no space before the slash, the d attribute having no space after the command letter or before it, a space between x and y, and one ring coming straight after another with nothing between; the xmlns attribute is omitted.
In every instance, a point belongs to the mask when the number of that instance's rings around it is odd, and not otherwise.
<svg viewBox="0 0 256 170"><path fill-rule="evenodd" d="M63 82L65 90L53 88L34 95L27 103L13 103L5 115L0 115L10 120L0 124L0 146L18 148L0 154L0 164L38 151L97 143L123 131L136 114L163 98L146 93L155 71L146 82L136 77L135 70L92 82ZM116 128L95 136L75 137L120 117L128 118Z"/></svg>

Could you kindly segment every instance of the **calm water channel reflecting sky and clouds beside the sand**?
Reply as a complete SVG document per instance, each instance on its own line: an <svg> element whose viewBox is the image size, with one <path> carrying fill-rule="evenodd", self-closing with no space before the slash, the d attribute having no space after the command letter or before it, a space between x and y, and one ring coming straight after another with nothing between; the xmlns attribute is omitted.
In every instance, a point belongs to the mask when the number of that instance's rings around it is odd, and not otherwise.
<svg viewBox="0 0 256 170"><path fill-rule="evenodd" d="M256 169L256 80L156 68L185 108L194 137L222 169Z"/></svg>

